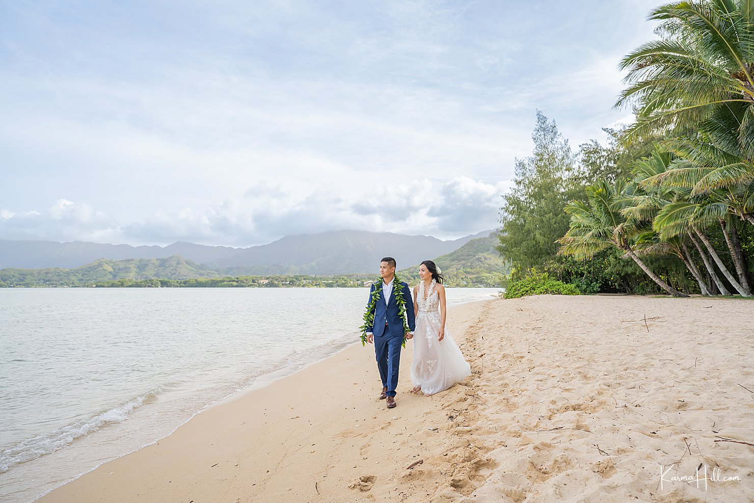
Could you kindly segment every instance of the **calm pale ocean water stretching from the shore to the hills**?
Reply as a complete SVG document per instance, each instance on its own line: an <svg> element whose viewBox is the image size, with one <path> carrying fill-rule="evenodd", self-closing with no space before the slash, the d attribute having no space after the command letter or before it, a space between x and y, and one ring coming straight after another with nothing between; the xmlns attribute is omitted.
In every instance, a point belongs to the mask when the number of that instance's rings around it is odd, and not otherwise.
<svg viewBox="0 0 754 503"><path fill-rule="evenodd" d="M495 288L449 288L449 307ZM33 501L358 340L367 289L0 289L0 501Z"/></svg>

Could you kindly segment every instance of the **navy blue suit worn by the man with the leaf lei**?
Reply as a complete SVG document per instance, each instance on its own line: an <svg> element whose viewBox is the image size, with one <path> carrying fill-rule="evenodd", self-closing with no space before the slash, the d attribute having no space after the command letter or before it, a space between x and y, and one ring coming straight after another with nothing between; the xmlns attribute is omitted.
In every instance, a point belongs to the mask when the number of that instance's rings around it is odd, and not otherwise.
<svg viewBox="0 0 754 503"><path fill-rule="evenodd" d="M372 292L379 287L379 283L373 284L369 289L369 302L372 301ZM383 284L384 287L384 284ZM366 327L367 332L374 334L375 355L377 357L377 369L379 370L382 387L387 386L385 393L388 397L395 396L395 388L398 385L398 367L400 365L400 348L403 345L403 319L398 314L398 303L395 299L395 285L390 294L388 304L385 304L385 294L380 292L379 299L375 302L374 325ZM406 317L409 322L409 331L415 328L414 301L411 297L409 285L401 282L400 291L403 300L406 301Z"/></svg>

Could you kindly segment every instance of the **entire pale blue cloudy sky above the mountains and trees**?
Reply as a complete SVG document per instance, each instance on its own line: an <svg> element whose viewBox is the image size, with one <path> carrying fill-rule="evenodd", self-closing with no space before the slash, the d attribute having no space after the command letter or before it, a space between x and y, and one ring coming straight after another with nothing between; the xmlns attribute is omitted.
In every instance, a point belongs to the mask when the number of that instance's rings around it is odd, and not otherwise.
<svg viewBox="0 0 754 503"><path fill-rule="evenodd" d="M497 226L535 113L630 121L632 0L0 0L0 239Z"/></svg>

